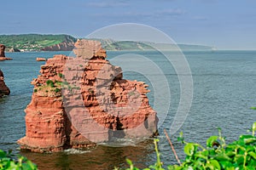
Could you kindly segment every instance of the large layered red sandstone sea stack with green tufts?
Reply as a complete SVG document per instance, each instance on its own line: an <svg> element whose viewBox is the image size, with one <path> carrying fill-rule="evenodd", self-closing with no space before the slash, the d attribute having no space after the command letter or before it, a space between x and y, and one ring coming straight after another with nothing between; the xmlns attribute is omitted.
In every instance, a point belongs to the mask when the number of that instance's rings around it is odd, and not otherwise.
<svg viewBox="0 0 256 170"><path fill-rule="evenodd" d="M147 85L123 79L121 68L109 63L100 42L79 40L75 47L76 58L55 55L32 81L20 148L60 151L157 133Z"/></svg>

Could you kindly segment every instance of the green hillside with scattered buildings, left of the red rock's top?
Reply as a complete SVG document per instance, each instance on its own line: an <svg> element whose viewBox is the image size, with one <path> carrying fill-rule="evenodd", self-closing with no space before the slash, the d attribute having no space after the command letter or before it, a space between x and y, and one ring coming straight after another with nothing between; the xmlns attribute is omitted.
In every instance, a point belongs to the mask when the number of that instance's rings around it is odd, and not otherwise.
<svg viewBox="0 0 256 170"><path fill-rule="evenodd" d="M76 42L76 38L68 35L41 35L41 34L21 34L21 35L0 35L0 43L8 49L16 48L25 51L39 51L61 42Z"/></svg>

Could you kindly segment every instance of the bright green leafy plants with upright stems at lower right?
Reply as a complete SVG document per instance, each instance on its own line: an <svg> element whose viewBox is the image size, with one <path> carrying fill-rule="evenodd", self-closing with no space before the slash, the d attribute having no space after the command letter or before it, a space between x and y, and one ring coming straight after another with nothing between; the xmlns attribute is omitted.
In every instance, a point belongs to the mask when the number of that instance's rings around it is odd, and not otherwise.
<svg viewBox="0 0 256 170"><path fill-rule="evenodd" d="M226 144L225 139L221 134L221 129L218 128L218 136L212 136L207 139L207 148L201 144L188 143L183 139L181 133L178 140L180 140L184 146L184 152L186 154L185 160L180 165L168 166L169 170L215 170L215 169L256 169L256 122L253 123L251 129L251 135L241 135L239 139ZM154 166L149 166L145 170L157 169L162 170L162 163L160 161L160 153L157 148L158 139L154 139L155 151L157 161ZM134 167L132 161L126 160L130 165L127 170L138 170Z"/></svg>

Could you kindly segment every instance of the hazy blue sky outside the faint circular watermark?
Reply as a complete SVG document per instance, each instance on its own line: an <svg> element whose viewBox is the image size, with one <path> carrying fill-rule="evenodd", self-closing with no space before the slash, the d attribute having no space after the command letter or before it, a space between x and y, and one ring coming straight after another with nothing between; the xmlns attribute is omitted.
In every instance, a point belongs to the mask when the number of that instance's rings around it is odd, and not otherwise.
<svg viewBox="0 0 256 170"><path fill-rule="evenodd" d="M255 0L8 0L0 34L66 33L85 37L119 23L153 26L177 43L256 49Z"/></svg>

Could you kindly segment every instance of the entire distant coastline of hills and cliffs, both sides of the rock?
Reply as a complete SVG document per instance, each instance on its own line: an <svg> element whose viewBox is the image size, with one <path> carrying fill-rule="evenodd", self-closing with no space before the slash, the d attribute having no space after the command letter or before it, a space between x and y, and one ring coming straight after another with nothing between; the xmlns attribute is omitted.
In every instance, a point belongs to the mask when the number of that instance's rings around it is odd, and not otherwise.
<svg viewBox="0 0 256 170"><path fill-rule="evenodd" d="M74 43L79 38L60 34L20 34L0 35L0 43L6 46L6 52L29 52L29 51L72 51ZM122 50L152 50L154 47L161 47L166 50L177 50L177 46L184 51L212 51L213 47L190 44L165 44L154 42L117 42L113 39L95 39L102 42L102 46L110 51Z"/></svg>

